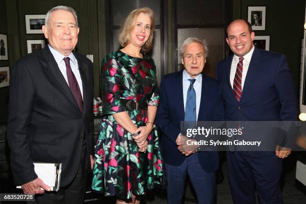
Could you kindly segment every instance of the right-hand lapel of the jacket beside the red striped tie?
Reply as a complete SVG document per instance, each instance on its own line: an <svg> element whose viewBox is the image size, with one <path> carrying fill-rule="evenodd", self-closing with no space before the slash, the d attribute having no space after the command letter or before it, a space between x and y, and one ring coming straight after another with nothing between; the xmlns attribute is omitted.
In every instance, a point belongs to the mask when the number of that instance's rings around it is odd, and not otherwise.
<svg viewBox="0 0 306 204"><path fill-rule="evenodd" d="M252 84L252 81L257 71L257 63L259 55L260 55L259 50L257 48L254 48L251 60L248 65L247 73L245 76L240 102L241 100L243 100L243 98L245 97L244 95L247 93L247 90L250 88L250 85Z"/></svg>

